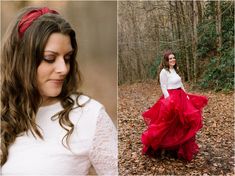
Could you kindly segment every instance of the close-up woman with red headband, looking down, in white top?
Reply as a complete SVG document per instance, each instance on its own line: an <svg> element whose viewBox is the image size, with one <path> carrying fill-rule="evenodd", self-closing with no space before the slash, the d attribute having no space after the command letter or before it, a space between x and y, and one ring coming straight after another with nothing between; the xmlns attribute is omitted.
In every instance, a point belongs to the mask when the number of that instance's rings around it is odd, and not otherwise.
<svg viewBox="0 0 235 176"><path fill-rule="evenodd" d="M2 175L117 175L117 132L104 107L77 92L74 30L47 7L22 10L1 56Z"/></svg>

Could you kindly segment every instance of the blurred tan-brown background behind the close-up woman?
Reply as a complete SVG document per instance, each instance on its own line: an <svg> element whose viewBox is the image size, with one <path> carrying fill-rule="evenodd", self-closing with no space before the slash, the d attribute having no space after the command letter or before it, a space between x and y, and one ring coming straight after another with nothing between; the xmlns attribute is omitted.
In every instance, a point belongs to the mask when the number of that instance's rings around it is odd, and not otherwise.
<svg viewBox="0 0 235 176"><path fill-rule="evenodd" d="M82 92L101 102L117 122L117 3L112 1L2 1L1 38L25 6L47 6L67 19L77 34Z"/></svg>

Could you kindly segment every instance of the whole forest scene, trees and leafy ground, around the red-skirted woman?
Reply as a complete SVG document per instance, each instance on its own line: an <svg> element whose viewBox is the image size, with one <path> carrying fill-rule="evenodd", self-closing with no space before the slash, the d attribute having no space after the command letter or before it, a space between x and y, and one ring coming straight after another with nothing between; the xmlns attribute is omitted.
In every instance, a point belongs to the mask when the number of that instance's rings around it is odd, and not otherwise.
<svg viewBox="0 0 235 176"><path fill-rule="evenodd" d="M186 91L209 100L191 162L141 152L168 49ZM119 175L234 175L234 1L119 1L118 84Z"/></svg>

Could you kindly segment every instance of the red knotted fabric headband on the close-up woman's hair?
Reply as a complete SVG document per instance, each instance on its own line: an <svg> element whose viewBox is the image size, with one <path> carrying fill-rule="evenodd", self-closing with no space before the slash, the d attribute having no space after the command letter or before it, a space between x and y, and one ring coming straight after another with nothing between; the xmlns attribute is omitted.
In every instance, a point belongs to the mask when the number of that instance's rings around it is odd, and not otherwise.
<svg viewBox="0 0 235 176"><path fill-rule="evenodd" d="M22 19L19 22L18 25L18 32L20 38L23 37L24 32L28 29L28 27L33 23L34 20L36 20L38 17L46 14L46 13L54 13L54 14L59 14L55 10L50 10L47 7L43 7L37 10L31 10L30 12L26 13Z"/></svg>

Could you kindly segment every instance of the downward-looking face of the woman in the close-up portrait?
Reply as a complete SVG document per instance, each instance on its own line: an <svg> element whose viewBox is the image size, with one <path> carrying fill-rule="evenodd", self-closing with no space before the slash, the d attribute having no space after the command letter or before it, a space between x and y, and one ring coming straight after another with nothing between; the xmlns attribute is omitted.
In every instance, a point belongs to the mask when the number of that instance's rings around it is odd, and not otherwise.
<svg viewBox="0 0 235 176"><path fill-rule="evenodd" d="M43 102L50 101L61 93L69 73L72 54L70 36L51 34L44 49L44 58L37 68L37 84Z"/></svg>

